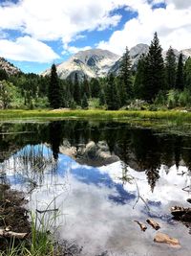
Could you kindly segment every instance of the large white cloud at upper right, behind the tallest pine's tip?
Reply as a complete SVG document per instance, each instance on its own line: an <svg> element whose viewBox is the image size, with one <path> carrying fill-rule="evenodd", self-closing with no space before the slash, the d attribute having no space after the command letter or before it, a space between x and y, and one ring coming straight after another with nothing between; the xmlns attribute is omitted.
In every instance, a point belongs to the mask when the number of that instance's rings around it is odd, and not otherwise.
<svg viewBox="0 0 191 256"><path fill-rule="evenodd" d="M154 0L152 3L162 2ZM138 43L150 44L153 34L158 32L164 49L170 45L178 50L191 48L191 1L166 0L165 3L165 9L153 10L152 4L143 0L137 2L134 8L138 17L127 21L121 31L114 32L108 41L100 41L97 47L122 54L125 46L131 48Z"/></svg>

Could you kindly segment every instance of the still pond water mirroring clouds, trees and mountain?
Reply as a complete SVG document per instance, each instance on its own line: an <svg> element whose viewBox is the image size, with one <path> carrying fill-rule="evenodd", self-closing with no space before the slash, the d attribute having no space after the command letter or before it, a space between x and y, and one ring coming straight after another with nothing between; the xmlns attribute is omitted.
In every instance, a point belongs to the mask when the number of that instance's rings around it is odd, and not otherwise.
<svg viewBox="0 0 191 256"><path fill-rule="evenodd" d="M57 236L80 255L190 256L190 230L170 214L190 206L190 170L189 136L115 122L0 124L0 182L26 192L33 212L53 210ZM135 221L148 217L181 247L141 232Z"/></svg>

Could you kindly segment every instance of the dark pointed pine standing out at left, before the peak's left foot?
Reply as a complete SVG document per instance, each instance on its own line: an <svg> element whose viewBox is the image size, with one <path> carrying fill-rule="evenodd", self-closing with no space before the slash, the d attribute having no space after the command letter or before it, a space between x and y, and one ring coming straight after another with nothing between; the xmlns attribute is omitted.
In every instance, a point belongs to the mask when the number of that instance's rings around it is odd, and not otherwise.
<svg viewBox="0 0 191 256"><path fill-rule="evenodd" d="M55 64L52 65L48 98L51 107L59 108L62 105L61 87L57 77Z"/></svg>

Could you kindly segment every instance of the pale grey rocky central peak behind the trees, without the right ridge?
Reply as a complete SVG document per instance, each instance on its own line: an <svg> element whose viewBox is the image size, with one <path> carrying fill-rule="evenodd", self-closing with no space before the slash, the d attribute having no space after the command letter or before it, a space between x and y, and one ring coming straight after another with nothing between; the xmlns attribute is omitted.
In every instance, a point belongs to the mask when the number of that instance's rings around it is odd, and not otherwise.
<svg viewBox="0 0 191 256"><path fill-rule="evenodd" d="M111 67L120 58L107 50L93 49L80 51L69 60L56 66L60 79L74 78L77 73L79 79L84 76L88 78L100 78L107 76ZM43 72L43 76L50 75L51 70Z"/></svg>

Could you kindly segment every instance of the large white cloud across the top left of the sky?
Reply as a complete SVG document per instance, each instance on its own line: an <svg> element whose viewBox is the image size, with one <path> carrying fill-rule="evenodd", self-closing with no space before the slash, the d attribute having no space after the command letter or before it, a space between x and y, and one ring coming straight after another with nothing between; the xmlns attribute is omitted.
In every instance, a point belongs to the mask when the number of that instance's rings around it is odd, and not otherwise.
<svg viewBox="0 0 191 256"><path fill-rule="evenodd" d="M62 38L70 42L83 31L117 26L120 15L112 11L126 0L23 0L0 6L0 28L16 29L39 40Z"/></svg>

